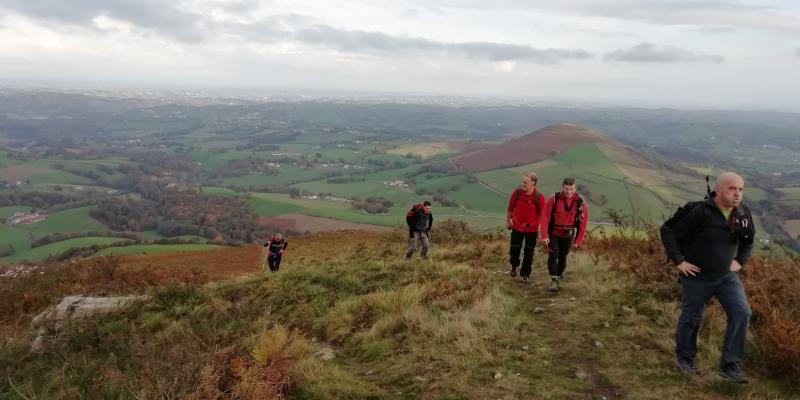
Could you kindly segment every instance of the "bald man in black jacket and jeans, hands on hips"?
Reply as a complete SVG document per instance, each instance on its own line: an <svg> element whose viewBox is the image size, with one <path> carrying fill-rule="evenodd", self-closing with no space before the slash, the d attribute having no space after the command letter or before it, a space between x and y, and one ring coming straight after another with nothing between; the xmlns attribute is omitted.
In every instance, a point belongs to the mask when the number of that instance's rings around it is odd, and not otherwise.
<svg viewBox="0 0 800 400"><path fill-rule="evenodd" d="M661 226L667 255L681 274L681 315L675 332L678 368L698 373L694 359L700 319L706 302L716 297L728 319L719 375L736 383L747 383L739 363L752 313L737 271L750 257L755 234L752 217L741 205L743 192L741 176L723 173L709 199L672 227Z"/></svg>

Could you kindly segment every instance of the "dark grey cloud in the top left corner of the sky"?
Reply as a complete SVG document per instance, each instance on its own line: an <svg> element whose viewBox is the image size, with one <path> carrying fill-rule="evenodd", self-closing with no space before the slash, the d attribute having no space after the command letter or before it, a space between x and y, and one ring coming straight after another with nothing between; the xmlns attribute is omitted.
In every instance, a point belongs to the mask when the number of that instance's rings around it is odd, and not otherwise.
<svg viewBox="0 0 800 400"><path fill-rule="evenodd" d="M205 17L159 0L4 0L0 7L42 21L84 28L92 27L95 18L106 16L183 42L201 41L209 28Z"/></svg>

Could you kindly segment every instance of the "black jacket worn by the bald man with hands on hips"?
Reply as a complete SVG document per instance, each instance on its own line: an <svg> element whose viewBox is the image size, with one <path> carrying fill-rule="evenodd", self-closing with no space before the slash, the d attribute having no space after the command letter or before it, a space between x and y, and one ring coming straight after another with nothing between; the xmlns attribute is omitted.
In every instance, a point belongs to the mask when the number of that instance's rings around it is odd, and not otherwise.
<svg viewBox="0 0 800 400"><path fill-rule="evenodd" d="M740 240L732 229L741 218L745 218L744 213L734 209L726 220L714 200L708 199L689 211L674 227L661 225L661 241L675 265L688 261L700 268L700 273L689 279L718 279L730 271L733 260L744 266L750 258L753 244ZM686 248L681 248L678 242L687 240Z"/></svg>

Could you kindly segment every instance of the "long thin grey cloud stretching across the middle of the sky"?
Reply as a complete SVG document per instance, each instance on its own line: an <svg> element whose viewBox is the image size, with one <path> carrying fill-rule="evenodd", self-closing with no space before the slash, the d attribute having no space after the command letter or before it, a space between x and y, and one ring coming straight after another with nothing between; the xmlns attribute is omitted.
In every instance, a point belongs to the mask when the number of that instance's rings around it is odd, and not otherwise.
<svg viewBox="0 0 800 400"><path fill-rule="evenodd" d="M490 61L527 61L540 64L593 57L582 49L537 49L527 45L489 42L446 43L422 38L395 37L380 32L345 31L324 25L298 30L294 37L304 43L362 54L430 52L458 54Z"/></svg>

